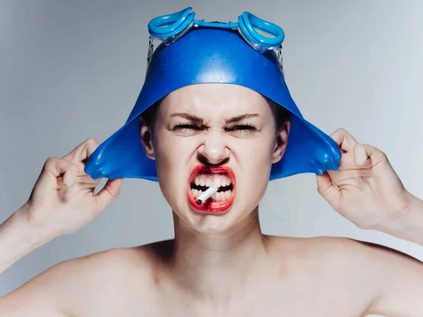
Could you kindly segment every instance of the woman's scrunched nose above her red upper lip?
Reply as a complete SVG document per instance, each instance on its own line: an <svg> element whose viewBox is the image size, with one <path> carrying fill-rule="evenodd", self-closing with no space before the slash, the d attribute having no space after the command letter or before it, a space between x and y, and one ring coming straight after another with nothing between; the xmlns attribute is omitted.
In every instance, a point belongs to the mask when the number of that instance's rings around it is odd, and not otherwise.
<svg viewBox="0 0 423 317"><path fill-rule="evenodd" d="M226 147L225 136L219 132L213 132L204 137L204 142L197 150L198 159L202 163L219 164L225 163L231 151Z"/></svg>

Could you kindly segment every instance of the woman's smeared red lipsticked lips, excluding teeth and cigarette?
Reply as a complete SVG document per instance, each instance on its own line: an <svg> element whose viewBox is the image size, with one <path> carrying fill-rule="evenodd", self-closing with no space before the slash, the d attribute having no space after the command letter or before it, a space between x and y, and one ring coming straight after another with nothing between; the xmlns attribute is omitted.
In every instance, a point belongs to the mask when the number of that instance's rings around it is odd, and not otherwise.
<svg viewBox="0 0 423 317"><path fill-rule="evenodd" d="M204 201L202 205L197 205L195 203L195 197L192 195L191 192L191 184L195 179L195 176L199 173L207 173L207 174L221 174L225 173L231 179L232 184L232 194L231 197L226 201L213 201L212 198L207 199ZM228 166L207 166L205 164L200 164L195 166L192 170L190 175L190 179L188 180L188 201L192 207L194 207L197 211L206 211L206 212L214 212L219 213L222 211L226 211L233 203L233 198L235 197L235 173L233 170Z"/></svg>

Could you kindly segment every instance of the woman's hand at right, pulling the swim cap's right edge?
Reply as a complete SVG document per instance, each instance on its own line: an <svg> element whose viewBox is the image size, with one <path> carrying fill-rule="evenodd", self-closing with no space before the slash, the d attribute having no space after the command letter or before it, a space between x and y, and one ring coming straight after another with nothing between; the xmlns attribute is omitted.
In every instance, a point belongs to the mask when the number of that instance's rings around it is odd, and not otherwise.
<svg viewBox="0 0 423 317"><path fill-rule="evenodd" d="M386 154L357 143L344 129L336 130L331 137L342 152L340 167L317 175L319 194L362 229L379 230L402 216L410 193Z"/></svg>

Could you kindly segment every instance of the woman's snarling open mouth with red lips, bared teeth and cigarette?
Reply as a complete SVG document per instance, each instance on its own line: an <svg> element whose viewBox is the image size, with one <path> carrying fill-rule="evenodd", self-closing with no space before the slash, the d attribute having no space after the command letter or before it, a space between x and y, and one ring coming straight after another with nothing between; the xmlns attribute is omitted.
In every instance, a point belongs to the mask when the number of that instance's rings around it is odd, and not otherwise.
<svg viewBox="0 0 423 317"><path fill-rule="evenodd" d="M196 166L189 180L188 200L200 211L224 211L233 202L234 183L235 175L228 166Z"/></svg>

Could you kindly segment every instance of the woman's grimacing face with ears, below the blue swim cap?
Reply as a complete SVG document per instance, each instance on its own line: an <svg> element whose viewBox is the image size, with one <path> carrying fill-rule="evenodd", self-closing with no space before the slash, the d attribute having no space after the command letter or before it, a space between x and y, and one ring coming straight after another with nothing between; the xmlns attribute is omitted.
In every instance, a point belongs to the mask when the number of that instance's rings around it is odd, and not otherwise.
<svg viewBox="0 0 423 317"><path fill-rule="evenodd" d="M286 149L289 128L288 123L276 134L261 94L239 85L201 84L168 94L152 137L144 124L141 137L176 215L200 232L221 232L259 204L271 164ZM218 194L195 204L211 186L219 186Z"/></svg>

